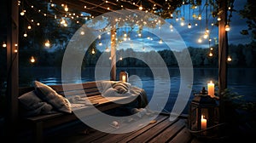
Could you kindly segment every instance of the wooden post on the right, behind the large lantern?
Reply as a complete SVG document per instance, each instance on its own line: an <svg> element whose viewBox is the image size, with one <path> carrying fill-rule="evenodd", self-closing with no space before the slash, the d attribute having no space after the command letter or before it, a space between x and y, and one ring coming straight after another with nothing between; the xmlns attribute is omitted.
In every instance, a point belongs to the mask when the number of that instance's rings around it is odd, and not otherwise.
<svg viewBox="0 0 256 143"><path fill-rule="evenodd" d="M227 21L227 2L219 1L219 17L218 21L218 94L219 94L219 113L220 123L224 122L224 100L221 94L224 89L227 89L227 51L228 51L228 36L225 31Z"/></svg>

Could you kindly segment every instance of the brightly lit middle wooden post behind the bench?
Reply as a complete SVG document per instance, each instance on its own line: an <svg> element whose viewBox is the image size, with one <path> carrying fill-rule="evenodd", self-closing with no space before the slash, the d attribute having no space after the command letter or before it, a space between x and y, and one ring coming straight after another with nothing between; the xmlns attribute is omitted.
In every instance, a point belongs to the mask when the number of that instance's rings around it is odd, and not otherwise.
<svg viewBox="0 0 256 143"><path fill-rule="evenodd" d="M115 37L116 37L116 29L115 26L112 25L111 29L111 73L110 80L116 80L116 49L115 49Z"/></svg>

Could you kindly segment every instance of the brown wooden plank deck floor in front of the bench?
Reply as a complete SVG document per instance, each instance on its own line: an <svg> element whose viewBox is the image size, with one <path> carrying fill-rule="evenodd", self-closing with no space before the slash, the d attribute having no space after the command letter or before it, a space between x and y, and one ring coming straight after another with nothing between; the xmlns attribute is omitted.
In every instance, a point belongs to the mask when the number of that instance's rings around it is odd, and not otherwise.
<svg viewBox="0 0 256 143"><path fill-rule="evenodd" d="M229 137L218 139L202 139L191 134L187 128L187 116L177 117L175 121L169 120L168 114L160 114L155 118L156 123L149 123L142 129L125 134L108 134L96 129L91 129L84 123L69 123L67 127L49 129L44 133L42 142L61 142L61 143L222 143L232 140ZM19 142L30 142L26 134L21 135L23 139ZM25 139L25 140L24 140ZM31 141L33 142L33 141ZM236 140L235 140L236 142Z"/></svg>

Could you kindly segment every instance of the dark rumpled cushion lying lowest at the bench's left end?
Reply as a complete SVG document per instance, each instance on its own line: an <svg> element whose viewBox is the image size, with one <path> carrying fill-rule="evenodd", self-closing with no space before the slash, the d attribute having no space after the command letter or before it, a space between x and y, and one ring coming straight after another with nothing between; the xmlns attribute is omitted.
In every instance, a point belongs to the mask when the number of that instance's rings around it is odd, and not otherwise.
<svg viewBox="0 0 256 143"><path fill-rule="evenodd" d="M30 117L39 114L47 114L53 109L53 106L38 98L35 90L27 92L26 94L21 94L18 97L18 100L20 101L21 106L25 108L24 116Z"/></svg>

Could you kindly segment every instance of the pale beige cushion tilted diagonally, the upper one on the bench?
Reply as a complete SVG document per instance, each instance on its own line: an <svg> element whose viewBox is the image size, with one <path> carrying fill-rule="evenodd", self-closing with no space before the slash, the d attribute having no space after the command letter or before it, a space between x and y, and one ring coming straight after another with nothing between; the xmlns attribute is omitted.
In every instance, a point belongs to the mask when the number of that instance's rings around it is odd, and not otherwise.
<svg viewBox="0 0 256 143"><path fill-rule="evenodd" d="M70 102L61 94L56 93L55 90L50 88L48 85L34 81L34 87L41 100L48 102L60 112L72 112Z"/></svg>

